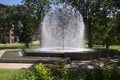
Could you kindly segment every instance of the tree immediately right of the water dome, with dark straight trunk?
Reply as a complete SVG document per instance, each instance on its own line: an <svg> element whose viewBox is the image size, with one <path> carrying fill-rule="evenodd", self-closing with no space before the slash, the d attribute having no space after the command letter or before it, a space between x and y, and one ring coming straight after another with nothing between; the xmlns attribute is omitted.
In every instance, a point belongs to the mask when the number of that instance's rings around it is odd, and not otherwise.
<svg viewBox="0 0 120 80"><path fill-rule="evenodd" d="M105 20L103 21L102 19L103 17L104 19L107 17L107 14L105 12L107 10L104 10L103 0L59 0L59 1L66 2L81 12L87 28L86 33L88 34L87 35L88 47L92 48L94 25L98 21L105 22Z"/></svg>

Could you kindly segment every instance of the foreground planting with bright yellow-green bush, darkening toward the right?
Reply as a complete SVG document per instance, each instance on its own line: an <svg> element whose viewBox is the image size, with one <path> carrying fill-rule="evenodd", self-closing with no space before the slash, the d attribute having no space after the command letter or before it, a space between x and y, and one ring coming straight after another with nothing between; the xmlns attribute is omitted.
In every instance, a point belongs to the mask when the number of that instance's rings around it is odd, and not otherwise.
<svg viewBox="0 0 120 80"><path fill-rule="evenodd" d="M67 70L64 62L55 62L47 67L39 63L15 80L120 80L120 72L106 68Z"/></svg>

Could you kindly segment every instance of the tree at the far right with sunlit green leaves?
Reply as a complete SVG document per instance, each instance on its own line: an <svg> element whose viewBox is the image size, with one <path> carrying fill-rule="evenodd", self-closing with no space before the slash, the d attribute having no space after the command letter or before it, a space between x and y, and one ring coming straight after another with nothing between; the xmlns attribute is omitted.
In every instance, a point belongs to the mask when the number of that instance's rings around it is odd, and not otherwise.
<svg viewBox="0 0 120 80"><path fill-rule="evenodd" d="M97 23L99 24L99 26L102 27L103 30L99 29L102 30L102 37L99 37L98 39L101 39L101 41L103 41L103 44L106 45L106 49L108 49L110 45L116 44L119 40L117 35L119 34L117 30L118 27L116 26L115 21L115 16L118 13L119 7L116 6L115 1L113 0L103 0L102 5L102 11L104 12L102 12L101 14L103 14L103 17L99 17ZM98 34L97 36L101 36L100 34Z"/></svg>

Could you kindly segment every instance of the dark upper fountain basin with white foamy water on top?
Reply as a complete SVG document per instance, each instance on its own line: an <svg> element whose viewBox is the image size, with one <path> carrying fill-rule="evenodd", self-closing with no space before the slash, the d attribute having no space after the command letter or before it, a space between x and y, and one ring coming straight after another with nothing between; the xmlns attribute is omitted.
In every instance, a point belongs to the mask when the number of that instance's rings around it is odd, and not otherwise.
<svg viewBox="0 0 120 80"><path fill-rule="evenodd" d="M71 60L89 60L89 59L97 59L102 57L113 56L117 52L114 50L92 50L85 49L81 50L51 50L51 49L24 49L25 56L40 56L40 57L63 57L70 58Z"/></svg>

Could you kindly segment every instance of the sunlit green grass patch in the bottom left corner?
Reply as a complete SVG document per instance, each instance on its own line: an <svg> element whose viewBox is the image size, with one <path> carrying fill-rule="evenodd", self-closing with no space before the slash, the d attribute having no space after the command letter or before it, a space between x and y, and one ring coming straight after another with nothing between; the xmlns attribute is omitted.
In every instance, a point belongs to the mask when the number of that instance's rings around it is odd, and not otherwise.
<svg viewBox="0 0 120 80"><path fill-rule="evenodd" d="M0 80L13 80L16 76L19 76L24 70L18 69L0 69Z"/></svg>

